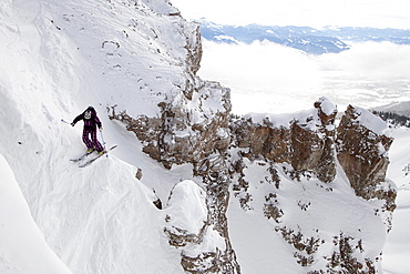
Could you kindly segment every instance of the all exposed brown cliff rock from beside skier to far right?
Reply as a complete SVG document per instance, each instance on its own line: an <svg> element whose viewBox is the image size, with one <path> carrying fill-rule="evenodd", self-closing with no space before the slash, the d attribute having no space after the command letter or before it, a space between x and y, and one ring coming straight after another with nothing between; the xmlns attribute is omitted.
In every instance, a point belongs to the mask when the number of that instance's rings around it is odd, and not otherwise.
<svg viewBox="0 0 410 274"><path fill-rule="evenodd" d="M199 79L196 80L202 82ZM240 118L230 115L229 90L217 83L202 83L202 89L196 89L192 94L192 98L199 98L201 101L198 105L202 108L196 109L196 114L189 113L185 106L192 99L182 94L176 94L172 103L162 109L161 119L141 120L112 112L112 118L125 122L127 129L134 131L144 142L144 151L162 162L165 168L192 163L194 175L201 177L201 186L207 194L208 213L204 226L195 235L182 233L177 227L166 230L170 244L181 248L186 248L187 242L201 245L206 241L204 237L207 233L214 231L223 239L224 247L202 252L194 257L187 255L189 252L184 250L182 264L185 271L240 273L229 240L226 212L229 194L234 195L233 199L239 202L244 211L257 211L255 207L257 197L250 191L255 182L249 181L249 175L246 174L246 170L255 162L259 166L266 166L268 176L265 176L265 182L273 185L273 189L264 194L262 211L267 221L275 221L274 231L295 250L295 260L306 267L306 272L377 271L380 256L363 256L366 251L361 244L362 239L339 230L330 232L335 233L331 240L320 234L318 229L316 235L305 235L305 227L297 221L290 223L284 221L288 210L280 202L286 196L286 191L280 189L284 189L283 185L288 184L289 180L316 182L317 179L321 182L320 187L326 192L332 192L339 165L356 195L380 201L378 205L370 206L373 206L378 217L385 222L385 229L389 229L396 199L393 186L386 180L387 151L392 139L369 126L375 122L360 122L362 115L366 116L363 120L369 119L366 110L349 106L336 126L336 105L325 98L315 102L314 109L307 112L285 116ZM211 98L221 100L221 108L217 111L204 109L206 100ZM207 113L204 115L206 119L202 119L201 122L192 119L193 115L204 113ZM370 118L380 123L376 116ZM152 126L153 123L156 125ZM301 192L304 191L305 186ZM298 207L306 212L306 215L314 214L309 212L312 203L315 201L297 201ZM356 225L360 227L360 224ZM327 245L335 247L324 256L319 250ZM381 250L378 252L381 253ZM320 264L319 268L312 267Z"/></svg>

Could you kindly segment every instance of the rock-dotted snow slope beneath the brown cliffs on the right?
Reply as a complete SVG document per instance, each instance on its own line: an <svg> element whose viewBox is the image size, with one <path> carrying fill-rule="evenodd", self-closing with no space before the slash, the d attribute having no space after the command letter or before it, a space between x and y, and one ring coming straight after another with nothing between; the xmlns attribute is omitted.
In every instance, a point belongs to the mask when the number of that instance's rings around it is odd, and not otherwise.
<svg viewBox="0 0 410 274"><path fill-rule="evenodd" d="M278 172L278 185L271 169ZM315 176L295 181L290 170L286 164L244 161L238 181L247 182L247 187L238 191L233 185L228 210L230 240L243 273L344 273L349 260L377 262L371 267L378 270L386 226L375 207L381 203L358 199L340 166L332 183ZM365 266L363 273L371 273L371 267Z"/></svg>

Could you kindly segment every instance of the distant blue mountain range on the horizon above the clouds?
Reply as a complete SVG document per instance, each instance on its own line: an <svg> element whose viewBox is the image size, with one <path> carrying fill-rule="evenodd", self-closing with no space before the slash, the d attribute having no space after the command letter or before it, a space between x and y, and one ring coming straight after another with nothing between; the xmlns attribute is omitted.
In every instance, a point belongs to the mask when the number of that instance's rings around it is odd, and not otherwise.
<svg viewBox="0 0 410 274"><path fill-rule="evenodd" d="M324 28L277 26L226 26L202 21L203 38L224 43L252 43L268 40L311 54L338 53L350 49L349 42L390 41L410 44L410 30L373 28Z"/></svg>

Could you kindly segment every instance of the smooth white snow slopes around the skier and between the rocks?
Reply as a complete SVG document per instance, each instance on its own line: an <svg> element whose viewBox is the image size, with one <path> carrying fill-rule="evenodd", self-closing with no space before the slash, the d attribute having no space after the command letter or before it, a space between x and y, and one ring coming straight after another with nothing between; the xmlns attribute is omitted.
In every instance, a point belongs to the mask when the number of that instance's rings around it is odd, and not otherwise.
<svg viewBox="0 0 410 274"><path fill-rule="evenodd" d="M168 244L164 227L196 232L206 221L204 190L191 165L165 170L106 114L106 106L116 104L131 115L160 115L157 103L184 83L187 41L178 30L188 33L194 26L165 16L175 11L166 0L0 2L1 274L184 273L181 250ZM85 150L81 123L72 128L61 119L71 122L88 105L102 120L106 145L119 146L80 169L70 159ZM388 175L398 184L399 207L378 267L404 274L410 268L404 260L410 256L404 173L410 170L410 133L397 130L393 135ZM260 183L266 168L247 165L254 210L244 211L232 195L227 214L242 273L305 273L262 212L273 187ZM378 202L357 199L338 173L329 185L296 183L279 174L286 183L278 195L288 211L283 222L306 236L339 230L360 236L362 256L377 257L387 237L373 214ZM153 204L157 197L163 210ZM310 206L309 217L300 204ZM192 256L224 247L218 234L206 233L204 243L189 246ZM329 243L331 235L325 239ZM329 247L322 245L319 254Z"/></svg>

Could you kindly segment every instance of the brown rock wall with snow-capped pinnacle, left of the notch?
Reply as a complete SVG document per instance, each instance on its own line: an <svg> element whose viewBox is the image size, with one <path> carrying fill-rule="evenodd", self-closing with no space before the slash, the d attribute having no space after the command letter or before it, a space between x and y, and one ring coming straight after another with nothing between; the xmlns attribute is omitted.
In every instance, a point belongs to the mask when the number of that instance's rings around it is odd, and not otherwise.
<svg viewBox="0 0 410 274"><path fill-rule="evenodd" d="M335 177L335 119L337 110L327 99L315 102L315 110L276 125L266 116L260 123L252 118L230 123L234 146L248 148L244 156L290 163L295 172L312 171L324 182Z"/></svg>

